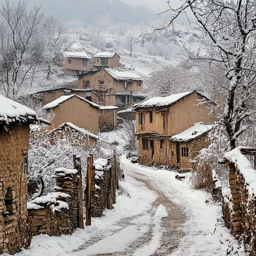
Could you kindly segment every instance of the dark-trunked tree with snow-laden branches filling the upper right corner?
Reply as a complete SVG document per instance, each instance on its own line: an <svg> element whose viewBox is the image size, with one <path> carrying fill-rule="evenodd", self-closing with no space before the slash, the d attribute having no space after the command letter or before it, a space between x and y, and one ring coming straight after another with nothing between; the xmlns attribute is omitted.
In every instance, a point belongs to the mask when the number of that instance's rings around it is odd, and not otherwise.
<svg viewBox="0 0 256 256"><path fill-rule="evenodd" d="M170 21L156 28L165 30L187 9L190 9L205 32L206 54L186 49L190 59L201 59L222 66L229 80L226 104L220 122L225 125L230 149L245 130L243 123L254 112L256 77L256 5L254 0L183 0Z"/></svg>

